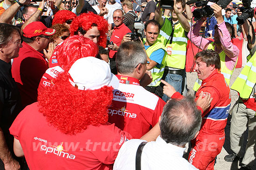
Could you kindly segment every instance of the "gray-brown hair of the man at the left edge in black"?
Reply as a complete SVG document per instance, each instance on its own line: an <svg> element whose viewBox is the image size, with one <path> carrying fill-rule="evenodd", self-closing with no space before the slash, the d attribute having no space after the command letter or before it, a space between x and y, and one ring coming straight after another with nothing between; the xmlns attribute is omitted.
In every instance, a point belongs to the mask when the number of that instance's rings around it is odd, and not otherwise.
<svg viewBox="0 0 256 170"><path fill-rule="evenodd" d="M0 46L6 45L12 39L13 32L16 31L21 37L20 29L17 26L0 23Z"/></svg>

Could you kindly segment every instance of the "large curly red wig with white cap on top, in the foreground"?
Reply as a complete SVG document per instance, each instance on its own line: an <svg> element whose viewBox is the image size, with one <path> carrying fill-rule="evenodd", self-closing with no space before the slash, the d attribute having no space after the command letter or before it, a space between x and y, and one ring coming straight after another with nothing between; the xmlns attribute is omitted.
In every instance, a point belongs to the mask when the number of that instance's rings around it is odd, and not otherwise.
<svg viewBox="0 0 256 170"><path fill-rule="evenodd" d="M50 125L74 135L89 125L107 123L112 86L119 84L108 63L95 57L78 59L53 83L54 86L47 87L38 97L39 111Z"/></svg>

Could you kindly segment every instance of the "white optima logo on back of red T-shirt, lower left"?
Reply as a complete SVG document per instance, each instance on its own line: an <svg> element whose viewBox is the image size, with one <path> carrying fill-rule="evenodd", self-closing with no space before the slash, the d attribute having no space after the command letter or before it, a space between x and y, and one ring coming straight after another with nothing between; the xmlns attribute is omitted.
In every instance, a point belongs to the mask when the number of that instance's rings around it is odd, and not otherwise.
<svg viewBox="0 0 256 170"><path fill-rule="evenodd" d="M45 154L47 153L53 153L59 157L66 157L66 158L69 158L69 159L74 159L75 156L72 155L72 154L69 154L67 153L67 151L65 151L63 149L63 146L62 146L63 142L61 143L61 145L58 145L58 146L54 146L52 145L52 147L47 147L46 145L41 145L41 150L45 151Z"/></svg>

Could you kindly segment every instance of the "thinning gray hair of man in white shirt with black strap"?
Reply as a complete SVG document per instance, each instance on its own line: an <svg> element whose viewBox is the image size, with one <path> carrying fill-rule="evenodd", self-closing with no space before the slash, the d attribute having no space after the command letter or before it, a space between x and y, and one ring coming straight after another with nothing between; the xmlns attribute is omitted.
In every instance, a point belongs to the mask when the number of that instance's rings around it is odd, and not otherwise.
<svg viewBox="0 0 256 170"><path fill-rule="evenodd" d="M162 139L174 145L184 145L195 137L201 124L201 111L191 94L182 100L171 99L163 107L160 121Z"/></svg>

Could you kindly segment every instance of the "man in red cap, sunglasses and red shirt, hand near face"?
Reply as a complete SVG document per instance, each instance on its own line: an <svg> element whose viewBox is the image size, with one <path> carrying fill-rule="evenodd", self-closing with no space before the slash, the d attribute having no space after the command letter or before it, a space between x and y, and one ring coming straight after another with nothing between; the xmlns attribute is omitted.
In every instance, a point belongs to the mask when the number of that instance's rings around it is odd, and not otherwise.
<svg viewBox="0 0 256 170"><path fill-rule="evenodd" d="M19 88L22 108L37 101L37 88L42 75L48 69L48 62L54 50L49 36L54 29L47 28L43 23L32 22L23 30L23 43L19 57L13 59L12 75ZM43 54L43 53L44 54Z"/></svg>

